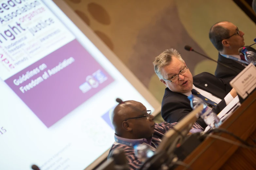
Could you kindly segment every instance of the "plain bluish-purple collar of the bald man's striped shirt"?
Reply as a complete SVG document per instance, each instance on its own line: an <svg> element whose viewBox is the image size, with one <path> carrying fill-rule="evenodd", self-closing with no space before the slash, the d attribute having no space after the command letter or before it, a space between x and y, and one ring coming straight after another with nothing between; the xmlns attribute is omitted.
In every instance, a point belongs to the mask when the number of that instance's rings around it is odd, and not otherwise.
<svg viewBox="0 0 256 170"><path fill-rule="evenodd" d="M151 145L152 137L150 139L141 138L141 139L127 139L120 136L117 136L115 134L115 141L120 144L128 145L128 146L134 146L138 144L146 143L148 145Z"/></svg>

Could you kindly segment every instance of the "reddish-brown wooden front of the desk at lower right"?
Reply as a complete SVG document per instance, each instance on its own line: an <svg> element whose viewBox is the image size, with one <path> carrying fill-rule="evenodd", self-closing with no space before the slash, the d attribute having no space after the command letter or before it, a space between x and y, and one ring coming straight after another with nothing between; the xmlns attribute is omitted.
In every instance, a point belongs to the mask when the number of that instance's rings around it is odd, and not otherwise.
<svg viewBox="0 0 256 170"><path fill-rule="evenodd" d="M250 144L255 144L253 139L256 138L256 92L240 106L227 120L223 122L220 128L226 129L229 132L247 140ZM215 134L230 140L235 140L227 134ZM249 137L251 136L251 137ZM221 167L226 169L241 168L248 169L255 166L256 152L248 149L239 148L238 146L229 144L219 139L208 137L199 145L185 160L184 163L190 165L192 169L209 169L215 170ZM241 155L239 157L239 155ZM249 159L251 155L251 159ZM234 157L232 159L232 157ZM243 157L243 158L241 158ZM247 161L247 162L245 162ZM253 162L254 161L254 162ZM223 164L227 162L227 165ZM235 165L232 165L234 164ZM248 168L247 168L248 167ZM179 166L176 169L186 169ZM254 169L254 168L253 168Z"/></svg>

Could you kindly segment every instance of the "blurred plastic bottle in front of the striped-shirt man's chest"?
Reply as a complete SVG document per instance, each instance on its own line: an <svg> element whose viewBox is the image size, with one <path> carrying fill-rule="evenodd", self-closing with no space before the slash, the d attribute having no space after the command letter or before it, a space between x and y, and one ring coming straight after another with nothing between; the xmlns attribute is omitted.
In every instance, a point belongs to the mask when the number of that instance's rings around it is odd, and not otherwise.
<svg viewBox="0 0 256 170"><path fill-rule="evenodd" d="M154 155L154 151L152 151L150 146L146 144L139 144L134 146L134 154L142 162L145 162L148 158Z"/></svg>

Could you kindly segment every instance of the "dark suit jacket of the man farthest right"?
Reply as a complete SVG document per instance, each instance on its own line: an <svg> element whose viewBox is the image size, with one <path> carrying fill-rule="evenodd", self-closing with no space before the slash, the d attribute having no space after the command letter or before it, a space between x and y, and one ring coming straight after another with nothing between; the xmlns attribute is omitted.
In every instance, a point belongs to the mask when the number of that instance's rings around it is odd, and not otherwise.
<svg viewBox="0 0 256 170"><path fill-rule="evenodd" d="M254 48L248 47L247 49L249 51L256 52L256 50ZM214 74L217 78L235 77L245 68L245 66L243 66L241 63L234 61L232 59L223 57L222 55L220 55L220 53L219 53L219 57L218 57L218 62L220 62L222 64L226 64L227 66L230 66L231 68L235 69L237 72L230 70L229 68L227 68L223 65L217 64L217 68L216 68L215 74Z"/></svg>

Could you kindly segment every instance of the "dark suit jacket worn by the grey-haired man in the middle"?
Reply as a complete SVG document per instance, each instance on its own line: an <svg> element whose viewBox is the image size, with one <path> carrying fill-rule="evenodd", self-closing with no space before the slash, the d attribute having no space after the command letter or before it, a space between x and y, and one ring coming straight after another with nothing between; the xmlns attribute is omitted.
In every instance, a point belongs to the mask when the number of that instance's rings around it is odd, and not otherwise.
<svg viewBox="0 0 256 170"><path fill-rule="evenodd" d="M232 78L219 79L210 73L203 72L193 77L193 84L197 88L212 93L214 96L223 99L216 107L213 108L215 113L219 113L224 107L226 107L224 97L232 89L229 84L230 80L232 80ZM190 101L186 95L172 92L169 90L169 88L165 89L161 109L162 118L165 121L168 123L179 122L191 111L192 108L190 106ZM203 128L207 126L204 120L201 118L197 119L196 122Z"/></svg>

